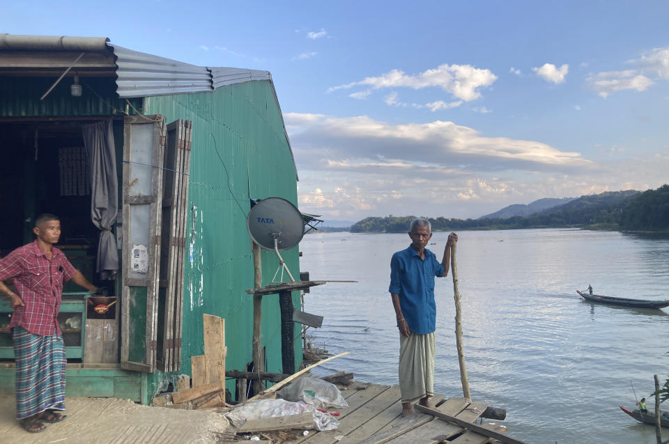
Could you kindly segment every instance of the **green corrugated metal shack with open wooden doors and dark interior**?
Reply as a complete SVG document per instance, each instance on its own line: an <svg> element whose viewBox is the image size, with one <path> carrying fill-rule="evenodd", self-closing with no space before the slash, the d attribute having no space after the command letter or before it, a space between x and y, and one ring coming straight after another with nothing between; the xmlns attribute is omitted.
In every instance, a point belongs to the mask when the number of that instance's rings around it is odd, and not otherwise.
<svg viewBox="0 0 669 444"><path fill-rule="evenodd" d="M270 72L193 66L108 38L0 34L0 137L0 253L29 243L35 217L54 213L63 226L57 246L105 289L102 298L64 289L66 395L150 403L203 354L203 314L225 319L226 368L248 368L251 199L297 205ZM299 275L297 247L282 256ZM100 265L115 257L118 271ZM279 261L263 250L262 263L267 284ZM6 302L0 393L10 394ZM263 298L262 309L265 367L282 372L278 298ZM234 396L234 380L226 387Z"/></svg>

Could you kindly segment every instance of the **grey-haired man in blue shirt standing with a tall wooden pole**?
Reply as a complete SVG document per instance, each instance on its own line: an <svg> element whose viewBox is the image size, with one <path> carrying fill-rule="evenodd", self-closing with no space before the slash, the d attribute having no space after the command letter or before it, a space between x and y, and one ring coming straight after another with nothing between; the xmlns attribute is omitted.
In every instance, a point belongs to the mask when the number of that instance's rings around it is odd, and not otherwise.
<svg viewBox="0 0 669 444"><path fill-rule="evenodd" d="M439 263L425 247L432 237L426 219L413 220L409 226L411 245L392 255L390 261L390 296L399 328L399 389L402 415L413 413L413 401L433 407L434 330L436 305L434 277L448 274L451 247L458 235L448 235L444 257Z"/></svg>

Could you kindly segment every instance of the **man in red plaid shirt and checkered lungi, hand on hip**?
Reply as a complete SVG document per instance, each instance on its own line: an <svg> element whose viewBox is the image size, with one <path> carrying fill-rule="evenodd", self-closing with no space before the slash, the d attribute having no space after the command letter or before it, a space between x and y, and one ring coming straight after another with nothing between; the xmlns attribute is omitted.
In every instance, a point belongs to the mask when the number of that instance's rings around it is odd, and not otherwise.
<svg viewBox="0 0 669 444"><path fill-rule="evenodd" d="M35 221L34 242L0 259L0 293L14 308L10 328L16 363L16 416L31 433L46 429L42 422L60 422L65 410L65 344L58 311L63 282L72 280L98 291L61 250L61 222L52 214ZM13 279L16 293L2 281Z"/></svg>

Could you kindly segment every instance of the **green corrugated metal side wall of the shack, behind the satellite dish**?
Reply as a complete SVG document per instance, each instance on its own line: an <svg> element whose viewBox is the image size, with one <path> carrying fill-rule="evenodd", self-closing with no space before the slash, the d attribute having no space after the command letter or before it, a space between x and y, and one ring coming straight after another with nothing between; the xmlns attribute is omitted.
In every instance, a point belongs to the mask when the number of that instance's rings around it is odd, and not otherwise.
<svg viewBox="0 0 669 444"><path fill-rule="evenodd" d="M181 373L190 374L190 356L203 354L202 314L225 319L227 369L245 369L252 360L253 287L251 239L246 216L249 198L284 197L297 205L296 174L284 136L282 116L270 82L245 82L212 93L144 99L144 112L167 123L193 122L186 239ZM189 251L190 250L190 251ZM293 276L299 273L298 248L282 252ZM263 284L279 265L263 250ZM293 292L299 307L300 296ZM278 296L263 299L263 346L267 369L281 372ZM295 335L300 332L295 327ZM295 363L302 360L300 341ZM153 375L148 396L174 375ZM234 394L233 381L229 390Z"/></svg>

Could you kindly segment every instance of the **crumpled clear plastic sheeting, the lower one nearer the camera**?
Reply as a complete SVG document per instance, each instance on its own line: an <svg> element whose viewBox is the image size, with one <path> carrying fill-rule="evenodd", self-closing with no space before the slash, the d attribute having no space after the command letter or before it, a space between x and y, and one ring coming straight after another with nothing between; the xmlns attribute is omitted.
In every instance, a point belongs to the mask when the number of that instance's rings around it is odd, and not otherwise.
<svg viewBox="0 0 669 444"><path fill-rule="evenodd" d="M311 412L314 418L313 428L316 430L334 430L339 427L339 421L332 418L329 413L316 410L314 406L299 401L290 402L285 399L260 399L249 401L225 413L224 416L231 420L235 427L241 427L247 420L260 420L263 418L279 418L282 416L299 415Z"/></svg>

